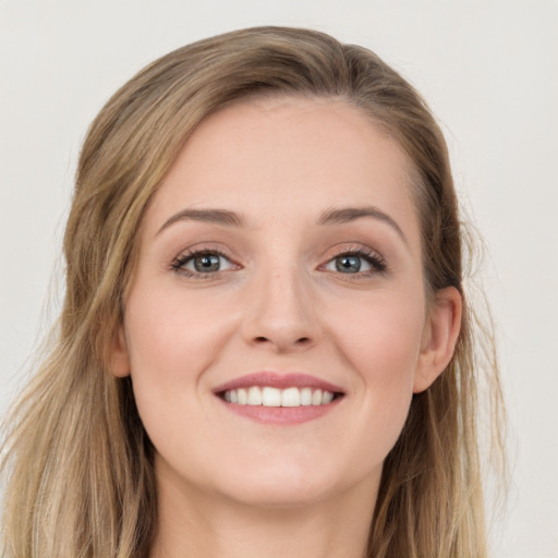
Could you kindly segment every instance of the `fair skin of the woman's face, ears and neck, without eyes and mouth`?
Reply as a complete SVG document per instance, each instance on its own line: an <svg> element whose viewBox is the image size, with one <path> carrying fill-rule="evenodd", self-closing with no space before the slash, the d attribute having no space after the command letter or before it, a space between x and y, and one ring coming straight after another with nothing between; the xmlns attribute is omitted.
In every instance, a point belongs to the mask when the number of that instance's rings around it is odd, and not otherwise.
<svg viewBox="0 0 558 558"><path fill-rule="evenodd" d="M336 100L236 104L189 138L145 215L113 350L157 450L151 557L363 556L383 462L459 332L454 289L425 300L410 170ZM319 223L332 208L371 206L392 222ZM174 217L184 209L244 223ZM220 270L175 269L193 248L225 254ZM360 271L338 270L355 250L385 269L355 254ZM264 369L308 374L343 397L319 418L277 425L214 393Z"/></svg>

